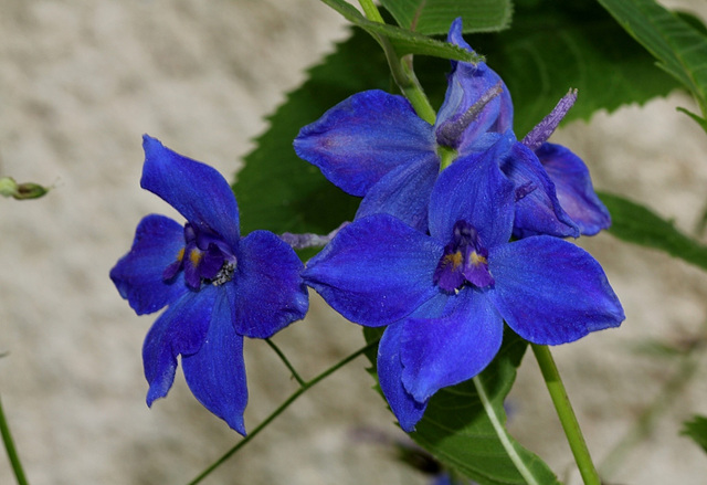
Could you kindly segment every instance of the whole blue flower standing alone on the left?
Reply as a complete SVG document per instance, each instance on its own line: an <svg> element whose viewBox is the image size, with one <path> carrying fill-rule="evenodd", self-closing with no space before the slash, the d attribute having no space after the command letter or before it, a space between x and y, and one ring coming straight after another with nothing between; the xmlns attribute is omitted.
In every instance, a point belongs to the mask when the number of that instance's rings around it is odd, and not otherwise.
<svg viewBox="0 0 707 485"><path fill-rule="evenodd" d="M110 271L138 315L167 306L143 347L147 403L167 396L181 355L194 397L245 434L243 337L271 337L305 316L303 265L271 232L241 238L235 198L213 168L147 135L143 147L140 186L188 221L182 226L163 215L147 215L130 252Z"/></svg>

